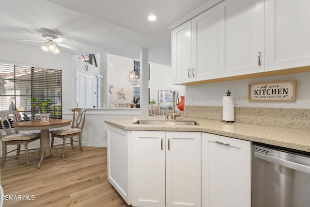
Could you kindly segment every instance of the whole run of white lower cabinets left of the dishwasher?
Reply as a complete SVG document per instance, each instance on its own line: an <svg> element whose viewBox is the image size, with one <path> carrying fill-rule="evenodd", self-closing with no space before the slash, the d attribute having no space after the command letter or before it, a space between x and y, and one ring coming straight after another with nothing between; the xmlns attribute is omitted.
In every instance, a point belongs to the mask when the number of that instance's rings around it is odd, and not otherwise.
<svg viewBox="0 0 310 207"><path fill-rule="evenodd" d="M250 207L251 143L108 125L108 180L134 207Z"/></svg>

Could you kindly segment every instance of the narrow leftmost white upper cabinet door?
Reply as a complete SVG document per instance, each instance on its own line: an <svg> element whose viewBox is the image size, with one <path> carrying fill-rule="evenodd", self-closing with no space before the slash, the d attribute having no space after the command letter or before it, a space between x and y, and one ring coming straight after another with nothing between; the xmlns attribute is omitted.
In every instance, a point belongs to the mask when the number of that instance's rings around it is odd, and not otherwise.
<svg viewBox="0 0 310 207"><path fill-rule="evenodd" d="M172 31L172 84L191 81L192 22L191 20Z"/></svg>

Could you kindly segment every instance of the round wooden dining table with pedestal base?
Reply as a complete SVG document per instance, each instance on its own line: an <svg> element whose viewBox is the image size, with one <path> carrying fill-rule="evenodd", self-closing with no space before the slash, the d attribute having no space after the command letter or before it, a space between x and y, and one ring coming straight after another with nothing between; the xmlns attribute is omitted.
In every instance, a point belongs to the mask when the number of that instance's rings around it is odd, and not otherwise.
<svg viewBox="0 0 310 207"><path fill-rule="evenodd" d="M70 123L71 119L49 119L48 122L40 122L40 120L31 120L31 121L16 122L14 124L14 127L17 130L37 130L37 129L41 130L40 150L34 152L29 158L29 160L32 160L36 157L40 157L38 168L41 168L43 161L46 157L51 155L62 157L62 154L60 152L58 152L56 149L50 148L49 129L65 127L70 125Z"/></svg>

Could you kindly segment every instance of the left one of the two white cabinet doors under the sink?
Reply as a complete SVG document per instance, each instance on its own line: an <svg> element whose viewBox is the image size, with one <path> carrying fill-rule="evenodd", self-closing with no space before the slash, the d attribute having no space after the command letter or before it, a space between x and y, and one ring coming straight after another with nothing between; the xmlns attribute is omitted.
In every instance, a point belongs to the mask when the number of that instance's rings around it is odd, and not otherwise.
<svg viewBox="0 0 310 207"><path fill-rule="evenodd" d="M164 131L132 131L132 205L165 206Z"/></svg>

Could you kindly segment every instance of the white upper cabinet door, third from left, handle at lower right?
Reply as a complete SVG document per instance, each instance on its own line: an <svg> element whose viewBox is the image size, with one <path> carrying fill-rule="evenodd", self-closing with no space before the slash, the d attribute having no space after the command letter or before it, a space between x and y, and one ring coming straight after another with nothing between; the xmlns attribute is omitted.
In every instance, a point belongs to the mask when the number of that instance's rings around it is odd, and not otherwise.
<svg viewBox="0 0 310 207"><path fill-rule="evenodd" d="M264 1L218 4L218 35L219 77L264 71Z"/></svg>

